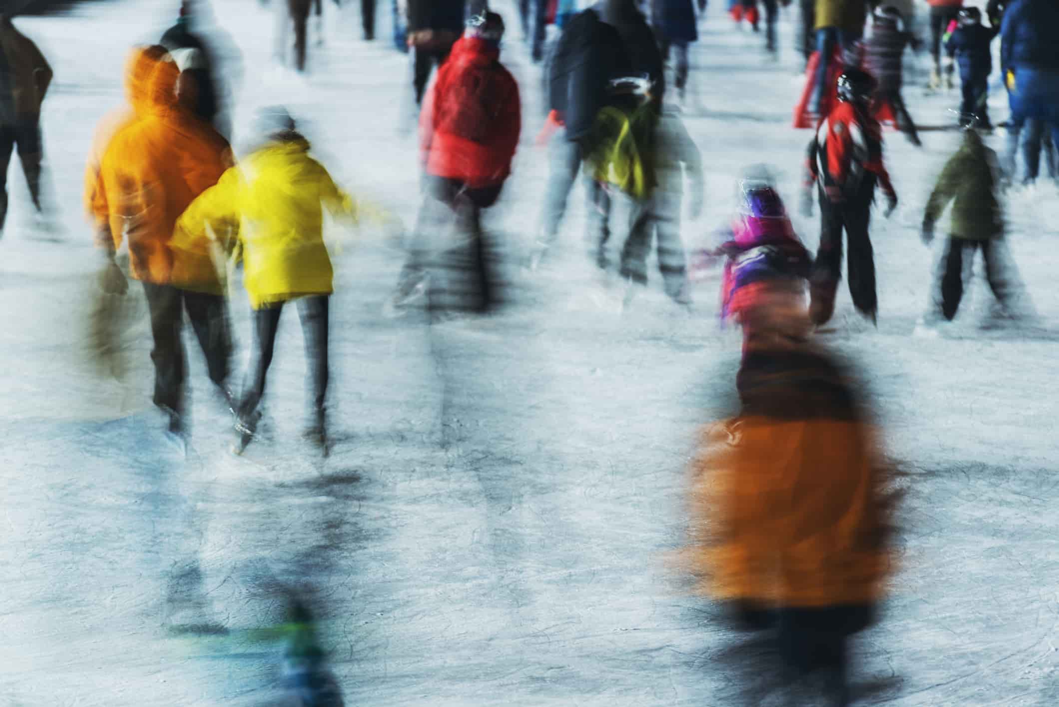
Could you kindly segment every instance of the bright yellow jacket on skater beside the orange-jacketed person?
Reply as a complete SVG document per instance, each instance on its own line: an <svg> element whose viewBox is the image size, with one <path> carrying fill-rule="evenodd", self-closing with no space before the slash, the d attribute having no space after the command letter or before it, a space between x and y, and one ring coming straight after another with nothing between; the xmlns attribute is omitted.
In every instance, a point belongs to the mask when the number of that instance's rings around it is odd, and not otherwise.
<svg viewBox="0 0 1059 707"><path fill-rule="evenodd" d="M195 199L177 223L174 248L194 251L207 237L227 250L239 246L244 285L255 310L329 295L334 270L323 240L323 207L357 219L353 198L309 156L309 143L290 132L228 170Z"/></svg>

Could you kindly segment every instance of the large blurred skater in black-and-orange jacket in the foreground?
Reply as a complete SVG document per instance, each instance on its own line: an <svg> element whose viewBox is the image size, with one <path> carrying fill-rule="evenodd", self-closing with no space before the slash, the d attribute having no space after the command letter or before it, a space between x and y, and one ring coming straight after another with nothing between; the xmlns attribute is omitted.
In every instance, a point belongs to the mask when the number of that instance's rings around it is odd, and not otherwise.
<svg viewBox="0 0 1059 707"><path fill-rule="evenodd" d="M804 280L761 263L753 288L738 410L703 429L690 469L686 558L739 628L772 634L780 669L756 666L747 704L778 687L784 704L844 706L849 637L893 571L893 497L850 370L810 342Z"/></svg>

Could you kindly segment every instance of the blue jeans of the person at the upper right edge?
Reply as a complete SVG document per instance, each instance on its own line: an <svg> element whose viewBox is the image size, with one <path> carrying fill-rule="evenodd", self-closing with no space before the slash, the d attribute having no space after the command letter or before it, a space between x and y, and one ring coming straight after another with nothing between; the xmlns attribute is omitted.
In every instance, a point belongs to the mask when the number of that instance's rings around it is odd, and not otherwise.
<svg viewBox="0 0 1059 707"><path fill-rule="evenodd" d="M1007 154L1005 167L1009 177L1015 176L1015 158L1019 149L1019 136L1026 120L1037 120L1051 126L1052 142L1059 145L1059 70L1036 69L1034 67L1015 68L1015 90L1008 91L1008 105L1011 118L1008 128ZM1043 131L1043 125L1036 127ZM1030 138L1035 136L1029 136ZM1035 144L1036 143L1036 144ZM1030 151L1037 147L1037 154ZM1027 140L1024 145L1027 178L1037 176L1037 156L1040 155L1040 141Z"/></svg>

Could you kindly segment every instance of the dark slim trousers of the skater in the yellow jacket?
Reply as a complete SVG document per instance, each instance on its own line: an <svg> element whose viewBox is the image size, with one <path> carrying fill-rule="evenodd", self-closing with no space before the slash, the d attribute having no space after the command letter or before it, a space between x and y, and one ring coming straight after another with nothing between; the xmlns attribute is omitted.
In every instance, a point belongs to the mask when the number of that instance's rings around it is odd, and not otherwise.
<svg viewBox="0 0 1059 707"><path fill-rule="evenodd" d="M323 429L324 410L327 396L327 330L328 297L315 295L294 300L298 317L302 320L302 337L305 341L306 369L312 396L312 424ZM253 312L254 343L250 368L239 399L237 413L239 422L250 431L257 423L257 406L265 394L265 378L272 364L275 335L280 326L280 315L286 302L267 304Z"/></svg>

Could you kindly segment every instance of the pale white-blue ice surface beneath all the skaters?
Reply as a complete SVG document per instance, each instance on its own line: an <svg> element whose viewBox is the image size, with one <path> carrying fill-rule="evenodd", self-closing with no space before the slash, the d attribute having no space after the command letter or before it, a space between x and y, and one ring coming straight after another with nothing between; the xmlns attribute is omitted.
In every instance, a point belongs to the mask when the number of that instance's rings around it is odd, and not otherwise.
<svg viewBox="0 0 1059 707"><path fill-rule="evenodd" d="M724 628L667 562L683 542L693 435L732 386L738 337L716 323L716 280L696 291L694 315L669 307L654 272L624 314L599 306L580 189L557 262L535 277L511 268L511 305L487 320L385 319L400 252L371 230L342 251L338 441L324 463L298 441L304 365L290 312L269 379L271 441L247 460L227 453L228 421L191 342L189 455L164 441L134 286L124 378L92 367L85 320L98 255L80 215L85 156L96 121L122 102L129 47L156 39L176 4L114 0L18 22L55 68L43 130L65 232L35 238L13 165L0 241L0 704L279 704L276 647L254 633L282 620L279 583L311 598L351 705L739 704L772 664L748 658L752 639ZM326 3L326 43L311 49L303 83L270 64L272 20L257 2L215 0L243 52L236 130L256 106L289 105L352 191L411 226L407 59L388 41L360 41L357 3L344 4ZM801 89L794 8L772 63L722 5L711 3L693 50L686 124L707 192L703 216L685 223L688 243L723 224L748 164L775 165L796 202L808 139L789 127ZM505 14L526 120L489 227L514 258L535 235L548 164L534 146L539 70ZM956 95L910 86L905 99L923 125L952 122ZM990 107L1006 116L1003 95ZM940 248L922 246L917 226L957 140L927 131L917 149L887 135L901 208L872 230L879 328L847 331L842 293L830 337L859 361L909 491L900 569L881 622L857 639L854 682L862 704L1052 705L1059 193L1017 190L1008 204L1008 246L1038 326L982 331L991 296L979 271L954 331L913 337ZM815 223L797 226L814 247ZM245 352L241 295L232 311ZM190 559L226 636L161 626L167 578Z"/></svg>

